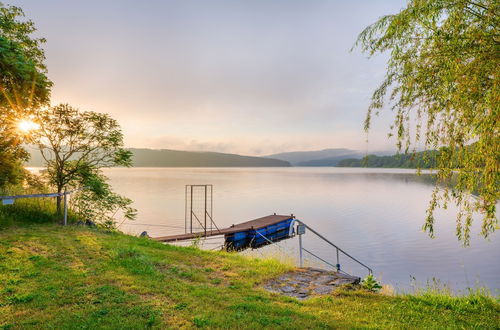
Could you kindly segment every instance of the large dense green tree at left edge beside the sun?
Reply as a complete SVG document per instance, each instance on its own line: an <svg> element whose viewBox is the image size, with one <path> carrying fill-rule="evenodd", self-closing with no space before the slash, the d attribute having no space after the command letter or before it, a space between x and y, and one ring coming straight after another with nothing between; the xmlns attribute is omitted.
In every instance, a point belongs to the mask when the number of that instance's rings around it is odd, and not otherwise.
<svg viewBox="0 0 500 330"><path fill-rule="evenodd" d="M45 41L33 38L32 21L18 7L0 2L0 187L22 177L28 154L17 122L48 102L52 83L46 76Z"/></svg>

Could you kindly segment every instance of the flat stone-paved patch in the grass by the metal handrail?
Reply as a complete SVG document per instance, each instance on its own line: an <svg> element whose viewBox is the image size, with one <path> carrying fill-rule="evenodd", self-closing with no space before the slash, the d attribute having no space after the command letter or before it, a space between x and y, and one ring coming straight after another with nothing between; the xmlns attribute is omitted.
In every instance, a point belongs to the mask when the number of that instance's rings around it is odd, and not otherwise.
<svg viewBox="0 0 500 330"><path fill-rule="evenodd" d="M298 299L330 294L344 284L358 284L359 277L319 268L298 268L264 283L264 289Z"/></svg>

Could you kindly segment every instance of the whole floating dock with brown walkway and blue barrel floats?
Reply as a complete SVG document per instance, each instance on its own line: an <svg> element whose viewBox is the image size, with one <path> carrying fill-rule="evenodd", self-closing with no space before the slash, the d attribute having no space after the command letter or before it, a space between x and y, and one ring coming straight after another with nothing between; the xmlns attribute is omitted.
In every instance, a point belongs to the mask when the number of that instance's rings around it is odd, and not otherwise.
<svg viewBox="0 0 500 330"><path fill-rule="evenodd" d="M293 237L294 222L295 217L293 215L273 214L234 224L227 228L156 237L155 240L160 242L175 242L224 235L226 249L243 250L250 247L258 248Z"/></svg>

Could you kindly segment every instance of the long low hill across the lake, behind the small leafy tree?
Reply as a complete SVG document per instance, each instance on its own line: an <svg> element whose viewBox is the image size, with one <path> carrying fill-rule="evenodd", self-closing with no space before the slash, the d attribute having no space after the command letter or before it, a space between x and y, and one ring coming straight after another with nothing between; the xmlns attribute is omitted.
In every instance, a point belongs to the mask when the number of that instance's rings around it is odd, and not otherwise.
<svg viewBox="0 0 500 330"><path fill-rule="evenodd" d="M32 148L27 166L43 166L40 153ZM169 149L128 149L134 154L134 167L288 167L278 159L240 156L219 152L178 151Z"/></svg>

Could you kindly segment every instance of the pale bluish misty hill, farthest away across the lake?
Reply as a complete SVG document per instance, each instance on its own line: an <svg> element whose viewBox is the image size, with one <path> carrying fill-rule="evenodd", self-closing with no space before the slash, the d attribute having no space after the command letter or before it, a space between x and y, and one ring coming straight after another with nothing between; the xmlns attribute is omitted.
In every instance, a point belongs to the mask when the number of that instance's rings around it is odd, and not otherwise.
<svg viewBox="0 0 500 330"><path fill-rule="evenodd" d="M290 162L293 166L337 166L338 162L343 159L363 157L363 155L362 152L357 150L337 148L284 152L265 157L284 160Z"/></svg>

